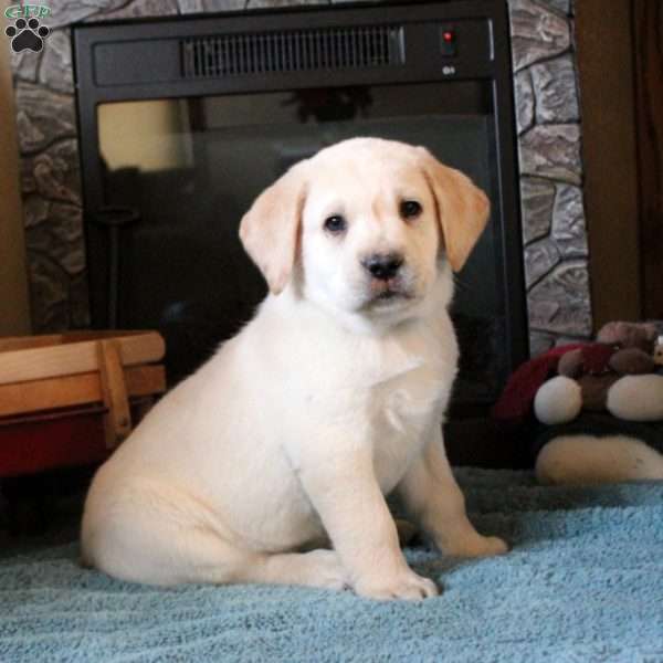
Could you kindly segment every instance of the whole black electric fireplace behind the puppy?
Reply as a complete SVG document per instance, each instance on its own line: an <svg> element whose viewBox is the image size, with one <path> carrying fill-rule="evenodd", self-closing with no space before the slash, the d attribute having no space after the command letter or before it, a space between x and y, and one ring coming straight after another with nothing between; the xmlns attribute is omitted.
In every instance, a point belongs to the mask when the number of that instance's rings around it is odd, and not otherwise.
<svg viewBox="0 0 663 663"><path fill-rule="evenodd" d="M254 197L352 136L427 146L491 198L457 276L455 411L527 349L506 4L461 0L73 29L91 314L156 328L172 382L266 286L238 238Z"/></svg>

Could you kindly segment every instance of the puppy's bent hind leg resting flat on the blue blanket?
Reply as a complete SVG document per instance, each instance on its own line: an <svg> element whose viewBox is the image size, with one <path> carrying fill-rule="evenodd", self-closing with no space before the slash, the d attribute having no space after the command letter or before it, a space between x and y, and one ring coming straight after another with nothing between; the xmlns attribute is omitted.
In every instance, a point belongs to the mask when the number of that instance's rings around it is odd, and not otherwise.
<svg viewBox="0 0 663 663"><path fill-rule="evenodd" d="M224 536L207 507L150 486L125 492L99 508L95 495L83 519L85 561L109 576L147 585L304 585L343 589L347 577L333 550L270 554Z"/></svg>

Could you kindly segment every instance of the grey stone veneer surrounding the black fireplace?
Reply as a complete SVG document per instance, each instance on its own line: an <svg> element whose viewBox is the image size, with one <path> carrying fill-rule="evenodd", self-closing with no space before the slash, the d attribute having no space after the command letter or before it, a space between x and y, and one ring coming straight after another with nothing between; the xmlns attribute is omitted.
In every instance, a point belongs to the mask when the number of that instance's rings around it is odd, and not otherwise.
<svg viewBox="0 0 663 663"><path fill-rule="evenodd" d="M335 0L336 1L336 0ZM343 0L341 0L343 1ZM51 0L39 54L12 55L35 332L88 324L69 25L329 0ZM591 332L571 0L509 0L533 352Z"/></svg>

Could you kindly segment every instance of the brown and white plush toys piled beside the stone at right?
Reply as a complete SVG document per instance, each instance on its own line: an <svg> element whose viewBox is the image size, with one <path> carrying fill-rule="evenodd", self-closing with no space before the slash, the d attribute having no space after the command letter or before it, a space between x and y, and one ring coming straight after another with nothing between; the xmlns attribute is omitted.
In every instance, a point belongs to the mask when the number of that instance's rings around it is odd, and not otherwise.
<svg viewBox="0 0 663 663"><path fill-rule="evenodd" d="M663 480L662 367L654 324L610 323L526 362L493 414L519 423L543 483Z"/></svg>

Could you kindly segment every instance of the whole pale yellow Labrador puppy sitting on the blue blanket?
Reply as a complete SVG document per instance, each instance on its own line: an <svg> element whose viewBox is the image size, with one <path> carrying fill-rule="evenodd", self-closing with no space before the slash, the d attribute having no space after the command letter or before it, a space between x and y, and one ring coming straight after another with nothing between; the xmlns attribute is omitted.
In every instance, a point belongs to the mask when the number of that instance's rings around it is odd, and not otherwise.
<svg viewBox="0 0 663 663"><path fill-rule="evenodd" d="M444 552L504 552L469 522L441 434L452 270L487 215L421 147L356 138L292 167L240 229L271 294L102 466L87 564L156 585L434 596L399 548L393 488ZM333 549L302 551L325 535Z"/></svg>

